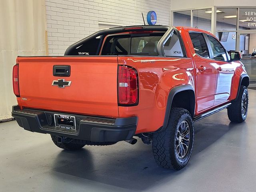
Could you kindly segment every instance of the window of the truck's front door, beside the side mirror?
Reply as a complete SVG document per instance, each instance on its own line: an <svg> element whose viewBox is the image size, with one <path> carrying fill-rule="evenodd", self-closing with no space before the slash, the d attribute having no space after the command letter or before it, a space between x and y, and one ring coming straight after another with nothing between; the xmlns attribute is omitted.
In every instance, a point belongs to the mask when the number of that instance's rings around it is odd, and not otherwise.
<svg viewBox="0 0 256 192"><path fill-rule="evenodd" d="M207 35L212 47L212 52L215 60L228 61L226 51L223 46L214 37Z"/></svg>

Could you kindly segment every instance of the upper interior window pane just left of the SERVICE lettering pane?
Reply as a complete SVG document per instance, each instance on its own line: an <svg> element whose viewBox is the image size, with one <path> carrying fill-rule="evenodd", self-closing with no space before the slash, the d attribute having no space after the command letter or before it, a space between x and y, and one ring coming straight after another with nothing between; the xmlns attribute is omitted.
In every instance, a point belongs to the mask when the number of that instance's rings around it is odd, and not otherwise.
<svg viewBox="0 0 256 192"><path fill-rule="evenodd" d="M217 8L216 30L236 30L237 8Z"/></svg>

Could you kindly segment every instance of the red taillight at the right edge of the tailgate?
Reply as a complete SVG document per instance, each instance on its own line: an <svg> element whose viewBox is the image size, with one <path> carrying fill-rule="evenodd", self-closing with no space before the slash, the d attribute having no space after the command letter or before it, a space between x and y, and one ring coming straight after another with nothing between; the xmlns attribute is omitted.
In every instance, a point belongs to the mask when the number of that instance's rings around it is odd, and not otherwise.
<svg viewBox="0 0 256 192"><path fill-rule="evenodd" d="M134 68L118 68L118 105L135 106L138 104L138 75Z"/></svg>

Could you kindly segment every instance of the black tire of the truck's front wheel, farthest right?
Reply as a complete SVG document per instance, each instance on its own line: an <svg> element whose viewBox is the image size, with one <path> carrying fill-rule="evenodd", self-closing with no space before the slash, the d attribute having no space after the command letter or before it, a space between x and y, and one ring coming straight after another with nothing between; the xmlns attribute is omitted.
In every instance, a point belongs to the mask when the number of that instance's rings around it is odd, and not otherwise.
<svg viewBox="0 0 256 192"><path fill-rule="evenodd" d="M242 114L242 100L243 95L246 95L246 112ZM242 123L246 120L248 114L249 94L246 86L241 86L238 94L238 98L232 101L230 107L228 107L228 118L231 122Z"/></svg>

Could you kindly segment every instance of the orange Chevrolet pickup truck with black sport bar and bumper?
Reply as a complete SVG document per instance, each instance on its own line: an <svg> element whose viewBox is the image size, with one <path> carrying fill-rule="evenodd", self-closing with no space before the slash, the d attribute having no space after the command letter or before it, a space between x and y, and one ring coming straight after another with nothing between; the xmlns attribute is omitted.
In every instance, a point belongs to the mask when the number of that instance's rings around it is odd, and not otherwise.
<svg viewBox="0 0 256 192"><path fill-rule="evenodd" d="M71 45L65 56L18 56L12 116L56 146L152 144L159 166L180 170L194 143L193 123L225 108L248 112L249 77L239 52L196 28L127 26Z"/></svg>

